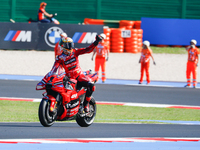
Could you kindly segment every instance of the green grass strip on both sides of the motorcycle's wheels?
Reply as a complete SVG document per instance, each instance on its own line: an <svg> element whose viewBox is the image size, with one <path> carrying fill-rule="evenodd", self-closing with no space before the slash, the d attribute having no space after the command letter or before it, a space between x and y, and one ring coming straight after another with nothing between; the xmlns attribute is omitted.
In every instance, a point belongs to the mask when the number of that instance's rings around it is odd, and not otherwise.
<svg viewBox="0 0 200 150"><path fill-rule="evenodd" d="M38 122L38 107L35 102L0 101L0 122ZM200 121L200 110L97 105L95 122L141 122L133 120Z"/></svg>

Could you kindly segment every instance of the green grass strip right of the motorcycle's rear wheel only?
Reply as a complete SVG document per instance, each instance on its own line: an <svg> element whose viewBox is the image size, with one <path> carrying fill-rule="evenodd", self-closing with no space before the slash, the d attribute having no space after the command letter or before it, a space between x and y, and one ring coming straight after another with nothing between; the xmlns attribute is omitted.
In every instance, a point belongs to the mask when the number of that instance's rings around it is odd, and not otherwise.
<svg viewBox="0 0 200 150"><path fill-rule="evenodd" d="M200 110L194 109L98 105L97 110L96 121L102 122L133 122L131 120L200 121Z"/></svg>

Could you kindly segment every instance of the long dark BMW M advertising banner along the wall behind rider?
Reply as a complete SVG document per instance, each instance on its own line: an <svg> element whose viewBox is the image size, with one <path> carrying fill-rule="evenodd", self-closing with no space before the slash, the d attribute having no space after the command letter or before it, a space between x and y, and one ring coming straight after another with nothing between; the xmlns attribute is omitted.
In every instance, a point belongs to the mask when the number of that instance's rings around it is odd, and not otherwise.
<svg viewBox="0 0 200 150"><path fill-rule="evenodd" d="M97 34L103 33L102 25L0 23L1 49L53 50L66 32L76 48L89 46Z"/></svg>

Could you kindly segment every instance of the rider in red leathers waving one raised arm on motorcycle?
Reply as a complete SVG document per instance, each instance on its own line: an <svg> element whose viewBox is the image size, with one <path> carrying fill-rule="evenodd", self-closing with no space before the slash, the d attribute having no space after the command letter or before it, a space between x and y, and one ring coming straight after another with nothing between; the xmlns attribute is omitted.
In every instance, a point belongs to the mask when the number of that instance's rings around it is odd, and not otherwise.
<svg viewBox="0 0 200 150"><path fill-rule="evenodd" d="M56 72L56 68L59 66L63 67L66 76L68 78L76 79L77 84L82 87L86 87L86 97L83 103L84 111L89 112L89 102L91 100L91 95L95 90L95 86L90 82L90 79L86 77L79 65L78 56L93 52L94 48L98 45L98 43L103 39L100 35L96 36L96 40L86 48L74 48L74 42L70 37L66 37L65 40L60 42L60 46L63 50L63 53L56 57L56 61L52 68L53 72ZM61 93L63 100L69 102L69 98L65 93Z"/></svg>

